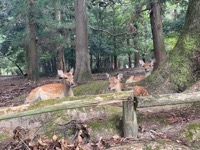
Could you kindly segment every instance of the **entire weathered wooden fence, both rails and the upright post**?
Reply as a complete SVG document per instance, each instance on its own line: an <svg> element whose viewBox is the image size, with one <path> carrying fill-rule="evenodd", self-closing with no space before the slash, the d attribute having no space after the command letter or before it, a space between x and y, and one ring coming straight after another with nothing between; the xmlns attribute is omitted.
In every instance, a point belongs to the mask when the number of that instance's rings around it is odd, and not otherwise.
<svg viewBox="0 0 200 150"><path fill-rule="evenodd" d="M95 107L123 102L123 124L124 136L137 136L136 107L154 107L194 103L200 101L200 91L192 93L173 93L163 95L151 95L133 98L132 91L101 94L93 96L66 97L57 100L39 101L34 104L25 104L16 107L0 108L0 120L31 116L46 112L64 109L75 109L81 107Z"/></svg>

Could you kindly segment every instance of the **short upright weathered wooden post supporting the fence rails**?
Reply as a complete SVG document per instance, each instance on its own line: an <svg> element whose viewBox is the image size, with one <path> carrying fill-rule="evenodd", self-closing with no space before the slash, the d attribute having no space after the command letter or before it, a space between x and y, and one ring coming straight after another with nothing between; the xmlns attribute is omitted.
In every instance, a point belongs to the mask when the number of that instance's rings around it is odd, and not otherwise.
<svg viewBox="0 0 200 150"><path fill-rule="evenodd" d="M124 137L137 137L137 99L133 96L128 97L128 101L123 102L123 131Z"/></svg>

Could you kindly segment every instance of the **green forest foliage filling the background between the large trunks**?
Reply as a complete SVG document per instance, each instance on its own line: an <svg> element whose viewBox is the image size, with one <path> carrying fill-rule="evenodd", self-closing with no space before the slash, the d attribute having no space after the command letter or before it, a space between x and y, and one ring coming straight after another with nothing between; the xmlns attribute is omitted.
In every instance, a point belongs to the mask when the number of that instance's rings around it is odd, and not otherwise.
<svg viewBox="0 0 200 150"><path fill-rule="evenodd" d="M150 2L154 0L87 1L93 72L109 69L108 62L111 63L113 56L117 56L120 64L127 64L128 55L133 57L135 50L139 51L140 57L152 58L153 41L147 7ZM187 3L187 0L162 1L167 51L174 47L182 30ZM26 1L2 0L0 7L0 52L25 70L29 44ZM60 20L56 18L58 11ZM55 60L58 50L65 51L68 66L75 66L74 1L35 0L35 16L40 70L45 70L44 67ZM133 33L129 31L129 25L136 28ZM130 39L129 45L127 39ZM6 67L12 67L11 63L6 64Z"/></svg>

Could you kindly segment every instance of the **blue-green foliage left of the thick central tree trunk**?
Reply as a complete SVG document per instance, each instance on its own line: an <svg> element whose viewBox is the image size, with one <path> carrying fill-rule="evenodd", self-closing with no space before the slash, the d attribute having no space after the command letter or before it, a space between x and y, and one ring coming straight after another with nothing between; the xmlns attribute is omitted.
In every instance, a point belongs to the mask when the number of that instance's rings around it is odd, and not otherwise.
<svg viewBox="0 0 200 150"><path fill-rule="evenodd" d="M20 62L18 65L21 68L25 68L25 53L29 44L26 29L28 12L26 1L3 1L0 6L5 10L0 15L3 20L0 24L0 51L4 56L11 57L14 62ZM60 22L55 18L57 10L61 12ZM69 40L66 39L74 32L73 11L72 0L68 2L64 0L35 1L37 46L40 51L39 56L41 56L40 67L54 59L57 50L68 50L67 48L71 46L72 43L69 44ZM69 30L73 32L69 34ZM2 41L2 37L4 41ZM10 68L8 65L7 67Z"/></svg>

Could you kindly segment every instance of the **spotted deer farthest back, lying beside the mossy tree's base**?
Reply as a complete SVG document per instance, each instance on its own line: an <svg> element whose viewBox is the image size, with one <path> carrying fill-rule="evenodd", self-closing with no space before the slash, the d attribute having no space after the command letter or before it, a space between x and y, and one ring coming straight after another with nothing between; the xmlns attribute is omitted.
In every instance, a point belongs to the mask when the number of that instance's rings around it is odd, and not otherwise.
<svg viewBox="0 0 200 150"><path fill-rule="evenodd" d="M132 76L130 76L130 77L126 80L126 83L138 82L138 81L140 81L140 80L145 79L145 78L148 77L149 75L151 75L151 72L153 71L153 64L154 64L154 61L151 60L150 63L144 63L143 60L139 60L139 63L140 63L141 66L144 68L144 70L145 70L145 75L132 75Z"/></svg>

